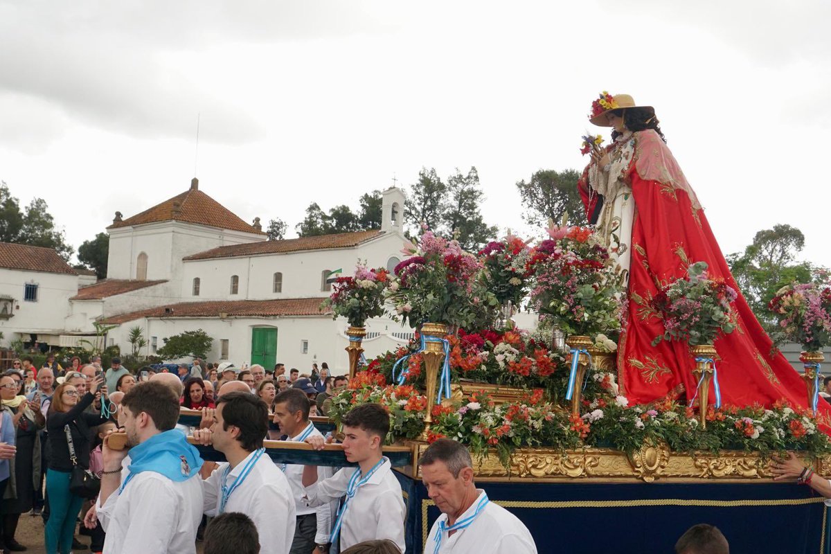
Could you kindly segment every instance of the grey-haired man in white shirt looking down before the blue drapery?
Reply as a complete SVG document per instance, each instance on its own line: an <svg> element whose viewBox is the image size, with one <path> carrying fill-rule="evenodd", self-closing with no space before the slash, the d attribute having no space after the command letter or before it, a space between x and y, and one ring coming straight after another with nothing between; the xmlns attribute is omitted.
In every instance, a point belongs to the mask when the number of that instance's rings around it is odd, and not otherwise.
<svg viewBox="0 0 831 554"><path fill-rule="evenodd" d="M441 554L537 554L534 537L519 518L476 488L464 444L439 439L419 458L421 482L441 515L425 552Z"/></svg>

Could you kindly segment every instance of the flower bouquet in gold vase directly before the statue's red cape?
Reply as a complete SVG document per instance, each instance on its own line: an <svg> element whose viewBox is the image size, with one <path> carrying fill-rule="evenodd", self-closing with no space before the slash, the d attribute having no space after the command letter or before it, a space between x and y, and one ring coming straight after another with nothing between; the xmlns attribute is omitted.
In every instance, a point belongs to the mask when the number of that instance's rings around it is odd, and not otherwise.
<svg viewBox="0 0 831 554"><path fill-rule="evenodd" d="M732 302L737 296L723 279L708 277L706 262L692 264L685 278L671 282L652 298L652 307L663 316L665 330L655 337L652 346L670 340L686 341L690 346L713 344L717 336L735 329Z"/></svg>

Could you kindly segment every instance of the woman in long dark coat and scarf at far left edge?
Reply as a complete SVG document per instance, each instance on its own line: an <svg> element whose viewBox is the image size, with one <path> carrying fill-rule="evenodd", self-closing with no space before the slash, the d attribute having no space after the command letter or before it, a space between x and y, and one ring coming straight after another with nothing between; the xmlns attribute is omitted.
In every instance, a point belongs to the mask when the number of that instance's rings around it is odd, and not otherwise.
<svg viewBox="0 0 831 554"><path fill-rule="evenodd" d="M9 468L9 480L3 498L0 513L2 513L2 546L12 552L26 550L15 540L17 521L20 514L28 512L34 505L34 488L32 483L41 481L41 440L39 431L46 425L41 413L41 400L35 397L27 401L20 395L19 375L14 371L0 380L0 400L4 409L9 409L12 422L17 429L17 453L12 458ZM11 380L15 382L11 383Z"/></svg>

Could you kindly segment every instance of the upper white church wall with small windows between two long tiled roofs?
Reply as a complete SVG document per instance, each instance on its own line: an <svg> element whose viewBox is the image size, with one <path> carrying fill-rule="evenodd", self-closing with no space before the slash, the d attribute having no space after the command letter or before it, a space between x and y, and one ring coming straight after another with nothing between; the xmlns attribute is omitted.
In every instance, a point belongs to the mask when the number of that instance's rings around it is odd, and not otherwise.
<svg viewBox="0 0 831 554"><path fill-rule="evenodd" d="M404 238L385 234L356 248L309 250L251 257L212 258L184 262L183 302L199 300L269 300L275 298L327 297L321 291L324 269L343 269L352 275L358 260L370 267L386 267L390 257L401 259ZM283 272L283 292L273 292L274 272ZM239 276L238 294L230 294L231 276ZM194 277L199 277L199 297L194 297Z"/></svg>

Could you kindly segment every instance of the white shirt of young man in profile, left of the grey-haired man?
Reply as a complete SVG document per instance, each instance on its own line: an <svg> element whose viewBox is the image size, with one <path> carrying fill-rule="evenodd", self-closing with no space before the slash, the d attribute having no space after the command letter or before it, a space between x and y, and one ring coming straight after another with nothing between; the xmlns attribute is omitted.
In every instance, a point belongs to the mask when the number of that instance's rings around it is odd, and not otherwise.
<svg viewBox="0 0 831 554"><path fill-rule="evenodd" d="M347 493L349 479L356 471L360 471L360 468L343 468L332 477L307 487L308 505L320 506L341 498ZM349 501L341 525L341 552L358 542L384 538L395 542L401 552L405 552L405 517L401 484L392 473L390 460L384 458L381 467L366 484L357 489L355 497Z"/></svg>

